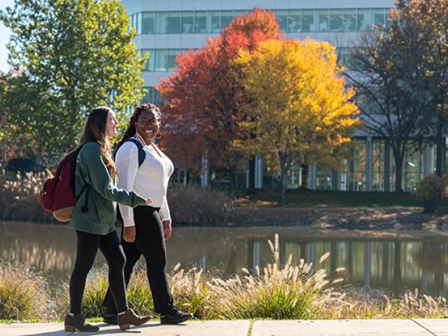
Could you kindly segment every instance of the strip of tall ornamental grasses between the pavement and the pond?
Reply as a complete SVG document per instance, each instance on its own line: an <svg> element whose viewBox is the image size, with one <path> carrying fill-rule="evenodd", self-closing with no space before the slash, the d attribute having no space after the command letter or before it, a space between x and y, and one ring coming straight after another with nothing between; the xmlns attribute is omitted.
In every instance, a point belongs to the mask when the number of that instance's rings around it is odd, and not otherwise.
<svg viewBox="0 0 448 336"><path fill-rule="evenodd" d="M422 295L417 291L406 291L400 297L388 297L378 295L378 291L356 288L338 290L335 284L342 279L337 274L343 269L328 274L320 268L320 264L313 266L300 260L298 265L293 265L291 257L286 265L281 265L278 236L273 242L269 241L269 245L273 253L272 262L265 268L255 269L253 273L244 270L244 276L223 276L216 271L204 272L199 267L175 267L169 273L175 303L201 320L430 318L448 314L444 298ZM319 262L328 256L329 253L326 253ZM67 284L50 291L41 276L29 270L23 272L24 267L3 263L1 269L0 319L60 321L68 311ZM12 291L10 279L16 279ZM102 316L101 302L106 293L106 279L106 269L96 269L88 277L83 300L83 313L88 318ZM134 274L128 299L130 306L140 314L153 311L151 290L144 269Z"/></svg>

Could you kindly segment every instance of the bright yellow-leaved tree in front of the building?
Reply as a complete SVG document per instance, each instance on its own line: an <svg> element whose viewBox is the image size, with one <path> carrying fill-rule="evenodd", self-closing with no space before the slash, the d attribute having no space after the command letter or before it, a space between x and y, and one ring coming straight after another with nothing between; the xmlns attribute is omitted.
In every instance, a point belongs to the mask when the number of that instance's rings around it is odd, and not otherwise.
<svg viewBox="0 0 448 336"><path fill-rule="evenodd" d="M346 87L330 43L266 41L255 52L241 50L233 61L251 97L247 136L234 141L238 151L261 153L281 173L281 200L286 202L288 170L293 162L339 168L347 158L351 134L360 126L354 90Z"/></svg>

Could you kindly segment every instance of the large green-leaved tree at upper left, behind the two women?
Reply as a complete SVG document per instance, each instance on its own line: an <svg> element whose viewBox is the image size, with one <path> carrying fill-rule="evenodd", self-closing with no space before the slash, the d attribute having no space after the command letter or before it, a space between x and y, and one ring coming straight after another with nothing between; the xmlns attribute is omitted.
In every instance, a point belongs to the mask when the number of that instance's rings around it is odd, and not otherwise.
<svg viewBox="0 0 448 336"><path fill-rule="evenodd" d="M143 96L145 57L118 0L17 0L0 12L12 31L3 111L13 137L52 158L76 144L92 107L119 118ZM27 137L20 137L27 134Z"/></svg>

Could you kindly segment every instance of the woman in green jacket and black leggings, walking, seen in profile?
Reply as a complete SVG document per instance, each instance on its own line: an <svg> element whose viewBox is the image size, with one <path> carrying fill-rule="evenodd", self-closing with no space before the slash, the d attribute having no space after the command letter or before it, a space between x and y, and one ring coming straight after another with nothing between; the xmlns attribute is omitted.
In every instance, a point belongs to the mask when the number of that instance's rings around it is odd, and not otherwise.
<svg viewBox="0 0 448 336"><path fill-rule="evenodd" d="M70 313L64 321L66 331L97 331L99 328L85 323L81 314L87 273L92 268L98 248L109 265L109 285L118 311L118 324L122 330L141 325L151 316L141 317L127 306L123 268L125 254L115 230L116 202L130 207L149 204L136 193L118 189L115 185L116 167L111 158L109 137L117 133L115 113L106 106L90 112L79 141L76 159L75 189L87 188L80 195L71 227L76 230L76 262L70 277Z"/></svg>

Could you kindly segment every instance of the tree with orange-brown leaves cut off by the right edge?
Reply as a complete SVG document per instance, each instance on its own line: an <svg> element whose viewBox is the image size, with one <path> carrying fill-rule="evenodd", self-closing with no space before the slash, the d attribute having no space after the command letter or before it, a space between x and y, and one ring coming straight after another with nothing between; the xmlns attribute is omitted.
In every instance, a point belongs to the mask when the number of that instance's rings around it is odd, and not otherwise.
<svg viewBox="0 0 448 336"><path fill-rule="evenodd" d="M428 94L434 103L426 111L432 114L430 121L437 146L436 173L441 176L448 118L448 0L398 0L395 7L391 20L397 22L396 29L405 35L405 43L413 47L409 55L400 52L414 69L412 77L403 80L406 85L419 80L419 86L425 89L419 96ZM399 47L400 41L394 42Z"/></svg>

